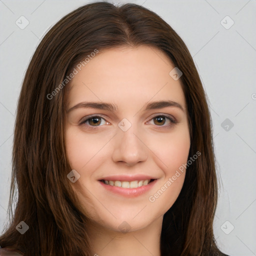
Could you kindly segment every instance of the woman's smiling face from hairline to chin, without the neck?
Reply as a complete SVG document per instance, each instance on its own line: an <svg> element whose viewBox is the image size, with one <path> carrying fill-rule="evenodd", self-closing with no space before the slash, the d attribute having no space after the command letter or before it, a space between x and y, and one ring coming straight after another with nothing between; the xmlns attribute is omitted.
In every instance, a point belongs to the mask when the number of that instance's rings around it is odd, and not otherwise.
<svg viewBox="0 0 256 256"><path fill-rule="evenodd" d="M91 222L138 230L176 200L190 138L173 68L155 48L118 47L91 58L68 85L65 147L80 175L71 184Z"/></svg>

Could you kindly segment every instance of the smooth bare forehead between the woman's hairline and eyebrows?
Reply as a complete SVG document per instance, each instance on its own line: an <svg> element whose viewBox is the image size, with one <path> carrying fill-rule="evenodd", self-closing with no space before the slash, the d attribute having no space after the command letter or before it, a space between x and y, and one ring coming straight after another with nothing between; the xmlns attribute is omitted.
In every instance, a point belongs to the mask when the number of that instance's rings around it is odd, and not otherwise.
<svg viewBox="0 0 256 256"><path fill-rule="evenodd" d="M154 47L104 50L77 69L68 85L67 104L102 100L119 105L132 100L138 106L150 99L169 99L185 108L181 81L169 75L173 68L170 59Z"/></svg>

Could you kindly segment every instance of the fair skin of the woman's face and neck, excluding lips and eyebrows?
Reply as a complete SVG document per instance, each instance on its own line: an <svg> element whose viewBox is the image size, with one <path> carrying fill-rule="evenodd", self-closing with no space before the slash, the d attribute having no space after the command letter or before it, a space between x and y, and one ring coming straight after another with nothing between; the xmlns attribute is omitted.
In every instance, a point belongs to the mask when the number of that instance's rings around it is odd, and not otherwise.
<svg viewBox="0 0 256 256"><path fill-rule="evenodd" d="M169 58L155 48L115 47L98 53L71 80L65 146L71 168L80 174L72 186L89 219L92 250L99 256L160 255L163 214L176 200L185 170L171 185L166 182L187 162L190 147L185 97L180 79L169 75L173 68ZM185 111L175 106L144 110L147 103L158 100L178 102ZM83 101L112 103L118 111L91 107L68 111ZM79 124L91 114L102 119ZM177 122L154 118L161 114ZM123 118L131 123L126 131L118 126ZM157 180L136 197L112 193L98 181L109 175L138 173ZM149 201L164 184L165 191ZM128 232L120 230L123 221Z"/></svg>

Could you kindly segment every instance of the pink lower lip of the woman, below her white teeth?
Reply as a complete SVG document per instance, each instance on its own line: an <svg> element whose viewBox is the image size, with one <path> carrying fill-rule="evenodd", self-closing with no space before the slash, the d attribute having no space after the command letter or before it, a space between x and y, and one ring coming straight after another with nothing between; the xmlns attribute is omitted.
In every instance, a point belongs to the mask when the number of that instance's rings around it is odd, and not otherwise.
<svg viewBox="0 0 256 256"><path fill-rule="evenodd" d="M142 185L140 187L134 187L134 188L124 188L121 186L111 186L108 184L105 184L102 181L98 181L106 190L109 190L113 193L120 194L127 197L135 197L139 196L146 191L150 190L152 186L156 183L156 180L153 180L152 182L148 183L147 185Z"/></svg>

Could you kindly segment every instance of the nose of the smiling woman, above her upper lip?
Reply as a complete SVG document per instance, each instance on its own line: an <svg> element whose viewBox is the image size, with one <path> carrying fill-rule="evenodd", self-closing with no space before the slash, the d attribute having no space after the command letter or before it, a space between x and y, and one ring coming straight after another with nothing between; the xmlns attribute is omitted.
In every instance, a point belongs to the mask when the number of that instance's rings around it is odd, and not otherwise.
<svg viewBox="0 0 256 256"><path fill-rule="evenodd" d="M119 129L114 136L114 150L112 160L124 162L131 166L137 162L143 162L148 157L148 149L144 144L144 139L135 129L134 125L126 130Z"/></svg>

